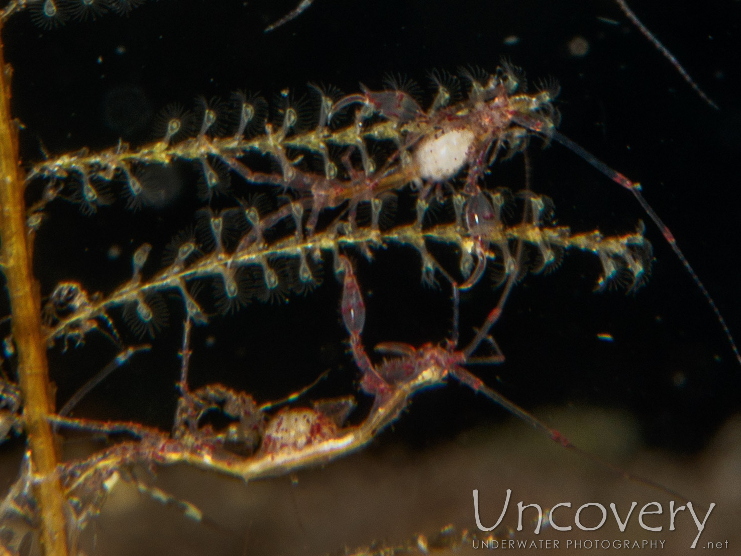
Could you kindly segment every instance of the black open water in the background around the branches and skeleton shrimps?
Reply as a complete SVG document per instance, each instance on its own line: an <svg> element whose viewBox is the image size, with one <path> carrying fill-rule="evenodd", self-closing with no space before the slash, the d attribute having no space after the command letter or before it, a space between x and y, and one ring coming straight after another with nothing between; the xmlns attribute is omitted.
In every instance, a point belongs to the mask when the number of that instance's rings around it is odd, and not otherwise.
<svg viewBox="0 0 741 556"><path fill-rule="evenodd" d="M533 83L551 77L560 83L562 133L644 185L646 199L674 232L729 328L741 334L735 279L741 238L739 2L717 2L711 9L676 2L631 6L720 111L682 81L610 0L316 0L296 21L263 34L292 4L162 0L129 16L70 21L48 31L18 16L7 24L4 42L15 70L13 109L25 126L24 162L41 158L39 142L50 153L106 148L119 136L140 144L150 139L162 107L189 106L196 96L227 97L246 89L262 91L271 101L290 87L298 98L308 93L308 82L349 93L358 82L380 88L386 73L426 87L433 68L454 73L470 64L494 70L506 57ZM583 56L569 50L575 39L588 45ZM426 98L432 98L429 89ZM529 150L533 188L554 199L560 224L625 233L647 219L627 191L573 153L541 146L534 139ZM487 185L522 188L522 161L518 155L494 165ZM127 279L130 256L142 242L153 243L157 253L187 228L196 178L187 166L177 171L187 188L169 208L132 214L119 202L87 218L59 202L39 234L42 294L62 279L110 291ZM506 363L474 371L529 410L625 410L637 417L648 446L694 453L739 410L741 365L708 303L651 222L647 236L656 260L637 294L593 293L599 264L582 254L568 255L554 273L525 279L493 330ZM119 259L107 256L111 245L121 249ZM367 293L368 349L381 341L419 345L448 336L448 289L419 285L416 253L390 248L371 263L356 258ZM330 379L313 397L353 391L357 372L345 354L339 285L330 271L324 282L305 298L250 305L196 331L193 383L222 381L265 400L330 369ZM462 300L463 341L496 302L497 292L485 289L479 285ZM182 319L177 302L170 305L165 348L116 371L84 400L79 414L169 426ZM614 341L600 341L597 334L611 334ZM64 357L52 351L59 403L116 353L101 337L88 343ZM504 418L464 388L439 388L420 394L381 441L401 439L422 448Z"/></svg>

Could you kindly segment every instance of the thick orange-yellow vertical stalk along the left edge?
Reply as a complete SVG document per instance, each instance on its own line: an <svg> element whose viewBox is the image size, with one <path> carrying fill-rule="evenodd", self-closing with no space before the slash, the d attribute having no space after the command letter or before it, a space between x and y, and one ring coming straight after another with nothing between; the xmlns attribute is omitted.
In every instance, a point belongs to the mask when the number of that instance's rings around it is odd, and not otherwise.
<svg viewBox="0 0 741 556"><path fill-rule="evenodd" d="M0 41L0 262L13 316L24 428L37 479L34 493L41 517L41 547L47 556L66 556L64 506L67 501L56 475L57 455L47 421L53 402L49 396L46 345L41 336L39 289L33 278L27 240L24 182L18 164L18 130L10 116L10 73Z"/></svg>

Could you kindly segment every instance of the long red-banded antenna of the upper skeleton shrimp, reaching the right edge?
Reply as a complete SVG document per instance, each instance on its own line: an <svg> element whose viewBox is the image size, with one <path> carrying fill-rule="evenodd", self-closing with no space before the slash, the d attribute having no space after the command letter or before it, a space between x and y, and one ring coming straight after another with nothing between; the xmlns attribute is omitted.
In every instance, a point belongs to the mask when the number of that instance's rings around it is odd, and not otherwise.
<svg viewBox="0 0 741 556"><path fill-rule="evenodd" d="M725 319L723 318L722 314L720 314L720 309L718 308L718 305L715 304L714 299L711 297L710 292L708 291L708 288L705 288L705 284L702 283L702 280L699 276L697 276L697 273L694 271L694 268L692 268L692 265L690 265L690 262L687 260L687 257L685 257L685 254L682 253L682 250L679 249L679 245L677 245L677 239L674 238L674 234L671 233L671 230L664 224L662 219L659 218L659 215L656 214L656 211L654 211L653 208L651 208L651 205L648 204L646 199L644 198L643 194L641 193L641 185L638 182L631 182L630 179L623 176L622 173L619 173L616 170L613 170L608 165L606 165L604 162L599 160L597 156L594 156L594 154L590 153L585 148L576 145L575 142L573 142L571 139L569 139L567 136L563 135L562 133L559 133L556 130L552 130L548 132L549 136L552 139L555 139L561 145L564 145L569 150L573 151L574 153L578 154L582 157L582 159L585 159L585 161L589 162L594 168L597 168L600 172L605 174L605 176L608 176L612 181L615 183L622 185L622 187L628 189L628 191L631 191L635 198L638 200L640 205L643 207L643 210L648 214L648 217L651 218L651 220L654 221L654 224L657 225L657 228L661 231L662 235L664 236L664 239L668 242L668 244L671 246L672 250L675 254L677 254L677 257L679 257L679 260L682 262L682 265L685 265L685 268L687 269L688 273L694 280L695 284L698 288L700 288L700 291L702 291L702 295L705 296L705 299L708 300L708 303L710 304L710 307L713 309L713 312L715 313L715 316L720 322L720 326L723 329L723 332L725 333L725 337L728 339L728 343L731 344L731 349L734 351L734 355L736 356L736 360L741 364L741 354L739 354L738 347L736 345L736 341L734 340L733 335L731 334L730 328L728 328L728 325L725 323Z"/></svg>

